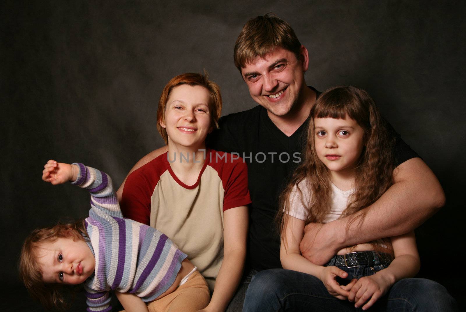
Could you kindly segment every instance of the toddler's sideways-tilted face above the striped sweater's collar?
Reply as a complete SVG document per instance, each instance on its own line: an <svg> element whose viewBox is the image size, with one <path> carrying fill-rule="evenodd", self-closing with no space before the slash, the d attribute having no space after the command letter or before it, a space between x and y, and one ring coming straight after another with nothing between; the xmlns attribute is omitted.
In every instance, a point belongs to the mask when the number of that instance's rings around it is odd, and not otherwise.
<svg viewBox="0 0 466 312"><path fill-rule="evenodd" d="M46 283L81 284L94 273L96 259L80 239L61 237L38 248L37 262Z"/></svg>

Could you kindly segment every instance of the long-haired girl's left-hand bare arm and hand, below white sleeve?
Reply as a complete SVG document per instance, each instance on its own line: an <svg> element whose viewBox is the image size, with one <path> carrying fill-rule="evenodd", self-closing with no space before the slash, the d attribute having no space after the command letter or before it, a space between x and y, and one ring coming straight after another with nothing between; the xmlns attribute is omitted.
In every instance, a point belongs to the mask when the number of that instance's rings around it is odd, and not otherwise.
<svg viewBox="0 0 466 312"><path fill-rule="evenodd" d="M280 260L284 269L300 271L319 278L329 293L338 299L346 299L349 292L343 289L337 282L336 277L346 278L348 273L338 269L336 266L315 265L301 255L299 243L304 234L304 220L285 216L285 235L281 235Z"/></svg>

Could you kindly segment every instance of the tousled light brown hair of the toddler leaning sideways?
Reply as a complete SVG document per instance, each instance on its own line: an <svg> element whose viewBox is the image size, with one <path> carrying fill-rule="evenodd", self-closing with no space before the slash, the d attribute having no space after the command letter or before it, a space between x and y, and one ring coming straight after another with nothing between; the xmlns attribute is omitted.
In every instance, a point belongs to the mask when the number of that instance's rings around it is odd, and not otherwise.
<svg viewBox="0 0 466 312"><path fill-rule="evenodd" d="M84 234L84 236L83 236ZM27 291L36 300L39 300L46 309L56 307L59 310L69 308L64 292L80 290L79 285L47 284L42 280L42 271L37 259L40 257L41 244L53 243L58 238L72 238L83 241L89 240L84 219L75 223L58 223L55 226L35 229L26 237L21 249L19 261L20 278Z"/></svg>

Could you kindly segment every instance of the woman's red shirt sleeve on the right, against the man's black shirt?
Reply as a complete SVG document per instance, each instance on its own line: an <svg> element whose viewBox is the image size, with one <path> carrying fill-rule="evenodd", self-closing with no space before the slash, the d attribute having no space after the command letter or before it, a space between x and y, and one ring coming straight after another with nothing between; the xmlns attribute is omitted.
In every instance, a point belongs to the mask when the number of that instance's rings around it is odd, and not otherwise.
<svg viewBox="0 0 466 312"><path fill-rule="evenodd" d="M246 206L251 203L247 186L247 165L241 157L232 160L231 154L227 153L220 178L225 190L223 211L234 207Z"/></svg>

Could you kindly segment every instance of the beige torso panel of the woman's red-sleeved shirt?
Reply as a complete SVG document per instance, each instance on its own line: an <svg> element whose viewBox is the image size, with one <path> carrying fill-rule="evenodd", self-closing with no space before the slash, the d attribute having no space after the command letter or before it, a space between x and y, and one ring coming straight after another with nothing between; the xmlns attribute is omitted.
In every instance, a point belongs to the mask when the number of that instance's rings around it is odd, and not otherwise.
<svg viewBox="0 0 466 312"><path fill-rule="evenodd" d="M188 255L211 291L223 260L224 192L217 171L207 166L193 189L165 171L151 197L150 225Z"/></svg>

